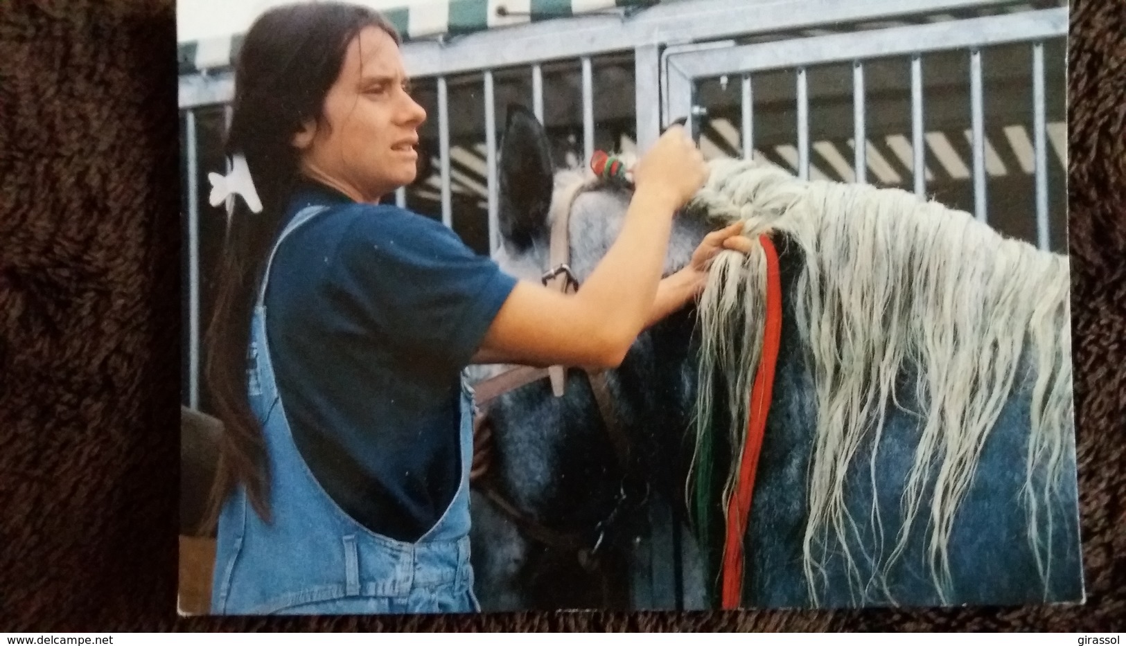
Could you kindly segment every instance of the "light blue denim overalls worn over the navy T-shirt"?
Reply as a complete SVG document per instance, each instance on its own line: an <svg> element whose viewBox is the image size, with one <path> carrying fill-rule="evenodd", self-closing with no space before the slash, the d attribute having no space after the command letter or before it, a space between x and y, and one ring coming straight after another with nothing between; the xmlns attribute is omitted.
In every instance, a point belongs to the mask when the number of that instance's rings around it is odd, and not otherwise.
<svg viewBox="0 0 1126 646"><path fill-rule="evenodd" d="M283 240L327 207L301 210L270 251L254 304L248 385L262 422L272 524L241 486L225 502L212 594L216 614L368 614L480 611L470 565L473 391L461 379L462 482L441 519L417 542L381 536L321 488L294 445L274 380L266 335L266 285ZM378 432L373 428L372 432Z"/></svg>

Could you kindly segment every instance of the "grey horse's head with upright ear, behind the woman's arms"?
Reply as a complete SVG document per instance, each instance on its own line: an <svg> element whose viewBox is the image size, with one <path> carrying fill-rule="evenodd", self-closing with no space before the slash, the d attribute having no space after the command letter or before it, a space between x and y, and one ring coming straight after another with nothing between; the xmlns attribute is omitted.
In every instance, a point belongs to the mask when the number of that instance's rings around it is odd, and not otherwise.
<svg viewBox="0 0 1126 646"><path fill-rule="evenodd" d="M520 106L508 111L499 188L501 244L493 259L513 276L539 281L552 269L552 224L565 209L568 264L579 289L616 239L633 196L632 187L601 181L587 168L557 168L544 127ZM664 272L683 267L707 231L700 219L678 217ZM489 468L494 490L502 492L510 506L546 529L580 535L588 547L597 545L604 569L614 569L627 559L620 553L628 550L627 544L636 537L632 519L647 497L676 500L676 491L682 486L683 477L673 474L688 466L685 451L676 443L687 437L694 397L688 361L694 352L685 344L694 321L687 308L643 332L622 365L602 373L607 396L601 409L589 376L577 368L566 370L566 387L560 397L553 395L547 379L540 379L497 397L488 406L493 445ZM471 375L480 382L503 369L476 366ZM611 424L625 433L625 454L615 446L608 428ZM479 493L474 511L479 539L492 548L491 554L477 556L479 578L489 582L479 586L484 605L555 603L557 608L560 603L604 602L605 595L581 592L590 582L574 581L566 590L557 572L548 585L549 602L544 594L529 593L536 586L528 577L547 576L529 574L537 567L544 569L542 563L533 562L553 553L552 547L521 531L497 503L484 497ZM555 551L560 553L561 568L577 569L573 555ZM620 567L610 574L619 578L627 575ZM604 580L606 575L599 574Z"/></svg>

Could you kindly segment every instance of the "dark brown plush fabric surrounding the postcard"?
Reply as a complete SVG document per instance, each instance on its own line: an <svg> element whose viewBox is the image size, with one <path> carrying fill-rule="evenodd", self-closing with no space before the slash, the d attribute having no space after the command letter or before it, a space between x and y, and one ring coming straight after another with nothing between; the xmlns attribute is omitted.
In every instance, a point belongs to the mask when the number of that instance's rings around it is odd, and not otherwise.
<svg viewBox="0 0 1126 646"><path fill-rule="evenodd" d="M1082 607L179 619L170 0L0 5L0 629L1094 630L1126 617L1126 0L1072 6ZM1118 619L1115 619L1118 618Z"/></svg>

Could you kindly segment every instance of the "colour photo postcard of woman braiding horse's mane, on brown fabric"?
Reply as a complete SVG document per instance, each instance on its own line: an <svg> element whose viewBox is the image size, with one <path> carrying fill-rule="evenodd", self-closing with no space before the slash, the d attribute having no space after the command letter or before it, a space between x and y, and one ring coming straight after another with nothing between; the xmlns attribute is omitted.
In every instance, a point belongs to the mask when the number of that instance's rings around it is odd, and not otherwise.
<svg viewBox="0 0 1126 646"><path fill-rule="evenodd" d="M177 24L181 614L1084 601L1066 2Z"/></svg>

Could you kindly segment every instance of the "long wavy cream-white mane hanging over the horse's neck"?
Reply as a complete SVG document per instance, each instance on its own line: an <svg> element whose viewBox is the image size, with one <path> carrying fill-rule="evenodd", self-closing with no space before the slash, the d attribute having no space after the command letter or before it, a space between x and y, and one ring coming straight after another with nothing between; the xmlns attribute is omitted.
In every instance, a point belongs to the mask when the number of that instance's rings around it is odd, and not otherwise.
<svg viewBox="0 0 1126 646"><path fill-rule="evenodd" d="M817 427L803 545L814 603L820 564L835 549L865 595L876 585L891 596L882 578L903 555L908 528L923 511L929 487L931 576L948 599L955 515L1002 405L1019 385L1026 351L1036 380L1022 499L1028 539L1046 586L1048 502L1058 490L1073 423L1066 257L1006 239L966 213L906 191L802 181L776 167L745 161L716 160L711 168L694 205L712 217L743 222L756 248L750 254L721 253L700 297L697 443L711 419L713 374L718 371L726 376L730 395L732 455L742 452L766 302L766 259L757 239L760 233L786 234L804 254L796 291L787 297L794 299L815 386ZM893 391L905 368L917 370L922 410L914 413L926 423L901 499L904 522L891 554L884 555L875 457L881 440L909 440L882 438L888 406L902 409ZM873 447L868 521L877 537L874 553L864 555L877 573L868 582L860 581L846 540L858 529L844 495L846 475L865 442ZM1043 479L1035 478L1042 468ZM725 497L734 473L738 468ZM1042 504L1048 510L1044 536Z"/></svg>

